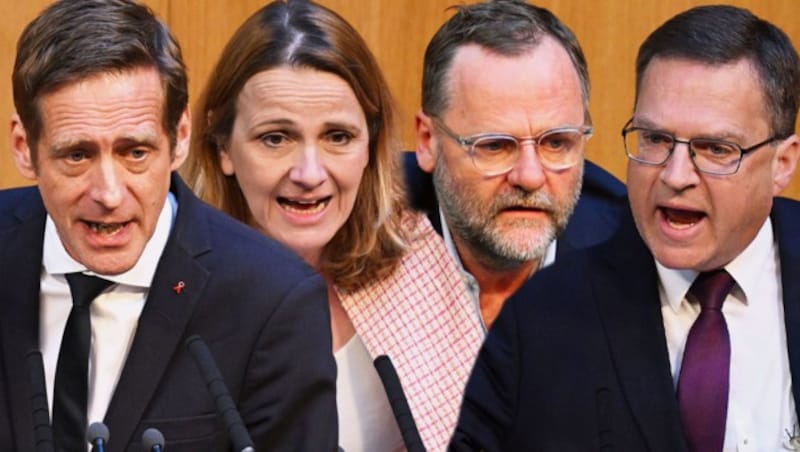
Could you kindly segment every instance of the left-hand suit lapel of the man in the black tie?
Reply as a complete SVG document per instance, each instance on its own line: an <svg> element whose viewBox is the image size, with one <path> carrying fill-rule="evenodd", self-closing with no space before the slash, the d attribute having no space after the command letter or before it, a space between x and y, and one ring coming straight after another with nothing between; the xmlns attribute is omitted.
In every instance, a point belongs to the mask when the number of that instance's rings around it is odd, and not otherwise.
<svg viewBox="0 0 800 452"><path fill-rule="evenodd" d="M38 191L31 189L30 193L16 212L19 225L0 231L0 340L8 407L20 449L34 443L30 404L34 388L25 357L29 351L39 350L39 288L46 218Z"/></svg>

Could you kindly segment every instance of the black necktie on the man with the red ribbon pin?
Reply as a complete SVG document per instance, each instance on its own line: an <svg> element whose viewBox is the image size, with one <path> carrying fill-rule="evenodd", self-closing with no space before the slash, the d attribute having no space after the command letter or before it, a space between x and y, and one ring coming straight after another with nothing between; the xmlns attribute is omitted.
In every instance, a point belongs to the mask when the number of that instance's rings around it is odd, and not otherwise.
<svg viewBox="0 0 800 452"><path fill-rule="evenodd" d="M53 437L59 450L73 452L85 451L87 445L86 403L92 340L89 305L112 283L82 273L70 273L66 277L72 293L72 310L58 352L53 390Z"/></svg>

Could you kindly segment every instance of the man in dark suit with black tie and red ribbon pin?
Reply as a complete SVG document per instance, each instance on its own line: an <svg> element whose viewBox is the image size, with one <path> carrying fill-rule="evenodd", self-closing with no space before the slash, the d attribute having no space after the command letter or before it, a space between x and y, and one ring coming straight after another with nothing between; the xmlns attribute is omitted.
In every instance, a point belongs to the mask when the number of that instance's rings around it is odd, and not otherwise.
<svg viewBox="0 0 800 452"><path fill-rule="evenodd" d="M86 450L102 421L106 451L142 450L149 428L170 451L230 450L197 335L257 450L334 450L325 285L175 175L190 121L167 28L127 0L56 2L20 37L13 85L14 159L37 187L0 192L0 449ZM86 275L108 281L90 305Z"/></svg>

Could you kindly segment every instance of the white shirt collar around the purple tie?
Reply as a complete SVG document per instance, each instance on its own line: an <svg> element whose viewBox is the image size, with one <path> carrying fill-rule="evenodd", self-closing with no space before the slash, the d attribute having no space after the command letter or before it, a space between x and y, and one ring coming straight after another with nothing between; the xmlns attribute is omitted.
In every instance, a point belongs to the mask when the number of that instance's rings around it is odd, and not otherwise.
<svg viewBox="0 0 800 452"><path fill-rule="evenodd" d="M762 274L759 269L764 268L769 259L775 259L776 251L772 220L767 217L753 241L725 266L725 270L733 277L744 294L743 303L747 304L748 300L757 299L753 295L757 293L759 278ZM662 300L665 300L677 312L698 272L689 269L667 268L658 261L656 261L656 269L658 270Z"/></svg>

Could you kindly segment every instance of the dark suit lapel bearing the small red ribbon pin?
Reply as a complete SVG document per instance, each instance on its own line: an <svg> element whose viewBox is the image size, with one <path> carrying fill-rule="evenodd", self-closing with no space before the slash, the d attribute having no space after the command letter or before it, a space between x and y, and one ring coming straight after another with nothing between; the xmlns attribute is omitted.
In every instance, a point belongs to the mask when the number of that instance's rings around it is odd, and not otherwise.
<svg viewBox="0 0 800 452"><path fill-rule="evenodd" d="M123 450L136 433L172 356L183 347L186 326L208 280L208 271L195 259L210 249L206 217L199 212L200 202L174 177L173 191L178 214L106 413L113 450Z"/></svg>

